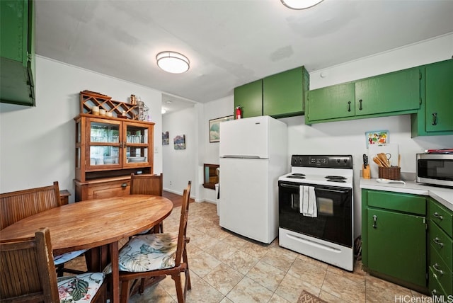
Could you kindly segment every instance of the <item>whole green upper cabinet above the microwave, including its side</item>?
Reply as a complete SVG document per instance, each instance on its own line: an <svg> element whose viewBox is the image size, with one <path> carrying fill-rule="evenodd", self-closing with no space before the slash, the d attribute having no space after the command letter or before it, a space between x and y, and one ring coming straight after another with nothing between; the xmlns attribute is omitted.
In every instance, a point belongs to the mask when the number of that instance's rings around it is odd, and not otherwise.
<svg viewBox="0 0 453 303"><path fill-rule="evenodd" d="M453 59L422 67L422 106L411 116L412 137L453 135Z"/></svg>

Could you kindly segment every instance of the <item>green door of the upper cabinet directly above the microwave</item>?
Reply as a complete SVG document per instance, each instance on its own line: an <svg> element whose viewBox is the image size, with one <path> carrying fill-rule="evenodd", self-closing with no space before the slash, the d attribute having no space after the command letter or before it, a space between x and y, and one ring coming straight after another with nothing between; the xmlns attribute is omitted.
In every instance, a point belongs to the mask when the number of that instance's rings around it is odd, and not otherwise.
<svg viewBox="0 0 453 303"><path fill-rule="evenodd" d="M425 69L427 132L453 131L453 59ZM435 135L435 134L432 134Z"/></svg>

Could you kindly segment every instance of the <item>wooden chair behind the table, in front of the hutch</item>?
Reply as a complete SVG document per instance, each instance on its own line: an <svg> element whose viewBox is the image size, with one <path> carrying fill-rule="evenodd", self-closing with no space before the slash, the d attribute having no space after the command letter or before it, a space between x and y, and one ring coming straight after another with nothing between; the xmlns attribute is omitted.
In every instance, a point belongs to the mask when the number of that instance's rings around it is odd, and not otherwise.
<svg viewBox="0 0 453 303"><path fill-rule="evenodd" d="M162 195L164 193L164 175L141 174L130 175L130 195ZM164 232L164 223L160 222L154 229L154 233ZM148 234L150 231L144 231L142 234Z"/></svg>

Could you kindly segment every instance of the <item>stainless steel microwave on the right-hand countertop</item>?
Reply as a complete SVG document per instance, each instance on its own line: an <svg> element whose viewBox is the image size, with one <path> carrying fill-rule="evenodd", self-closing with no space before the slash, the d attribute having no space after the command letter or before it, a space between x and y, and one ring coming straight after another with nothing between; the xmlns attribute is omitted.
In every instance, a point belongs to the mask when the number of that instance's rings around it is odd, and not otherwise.
<svg viewBox="0 0 453 303"><path fill-rule="evenodd" d="M453 154L417 154L415 181L453 188Z"/></svg>

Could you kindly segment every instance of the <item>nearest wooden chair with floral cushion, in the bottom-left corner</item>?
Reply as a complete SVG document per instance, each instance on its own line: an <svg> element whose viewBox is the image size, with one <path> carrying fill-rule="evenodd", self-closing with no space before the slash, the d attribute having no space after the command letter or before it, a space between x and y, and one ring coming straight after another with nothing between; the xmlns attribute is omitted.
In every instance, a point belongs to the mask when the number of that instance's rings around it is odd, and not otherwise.
<svg viewBox="0 0 453 303"><path fill-rule="evenodd" d="M74 303L88 297L93 299L83 302L105 302L103 273L57 278L47 227L36 231L33 238L1 241L0 264L0 302L55 303L60 302L60 295ZM75 292L68 287L85 282L88 287L77 287Z"/></svg>

